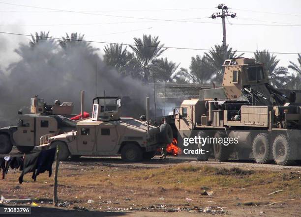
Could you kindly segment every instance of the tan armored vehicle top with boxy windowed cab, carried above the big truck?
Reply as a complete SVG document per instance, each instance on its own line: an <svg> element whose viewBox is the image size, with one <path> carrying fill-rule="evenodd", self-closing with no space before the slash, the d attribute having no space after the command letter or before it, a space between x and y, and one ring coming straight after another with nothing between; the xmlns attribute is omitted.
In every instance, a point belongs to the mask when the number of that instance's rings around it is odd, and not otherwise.
<svg viewBox="0 0 301 217"><path fill-rule="evenodd" d="M301 102L301 92L276 89L269 83L264 63L253 58L226 59L222 87L200 90L200 98L247 100L252 105L283 105Z"/></svg>

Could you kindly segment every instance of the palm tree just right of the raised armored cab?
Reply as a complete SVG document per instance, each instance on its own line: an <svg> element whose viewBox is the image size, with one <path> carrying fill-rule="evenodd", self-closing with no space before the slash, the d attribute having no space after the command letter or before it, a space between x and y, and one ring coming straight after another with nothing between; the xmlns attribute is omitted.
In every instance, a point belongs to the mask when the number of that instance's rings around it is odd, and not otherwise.
<svg viewBox="0 0 301 217"><path fill-rule="evenodd" d="M265 69L268 72L268 76L271 84L276 87L283 86L288 81L288 70L285 67L277 67L279 59L276 59L276 55L270 54L269 50L256 51L254 53L256 62L265 63Z"/></svg>

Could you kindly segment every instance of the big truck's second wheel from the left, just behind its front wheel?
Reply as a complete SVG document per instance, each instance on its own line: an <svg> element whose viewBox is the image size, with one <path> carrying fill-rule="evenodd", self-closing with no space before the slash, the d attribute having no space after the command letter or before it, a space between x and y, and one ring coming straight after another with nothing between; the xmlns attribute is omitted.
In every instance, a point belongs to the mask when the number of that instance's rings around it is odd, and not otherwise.
<svg viewBox="0 0 301 217"><path fill-rule="evenodd" d="M213 142L213 153L214 153L214 158L217 161L227 161L230 156L230 147L225 146L223 143L218 143L218 138L225 138L227 135L224 132L217 131L214 135L214 138L217 138L217 143L214 139Z"/></svg>

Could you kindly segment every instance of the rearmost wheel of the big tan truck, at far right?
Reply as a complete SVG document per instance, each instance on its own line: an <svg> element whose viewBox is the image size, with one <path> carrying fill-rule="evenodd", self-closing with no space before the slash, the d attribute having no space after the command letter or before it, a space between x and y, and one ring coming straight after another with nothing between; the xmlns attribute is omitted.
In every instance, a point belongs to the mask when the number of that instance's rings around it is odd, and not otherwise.
<svg viewBox="0 0 301 217"><path fill-rule="evenodd" d="M278 135L274 139L272 153L278 165L293 164L297 160L297 143L285 135Z"/></svg>

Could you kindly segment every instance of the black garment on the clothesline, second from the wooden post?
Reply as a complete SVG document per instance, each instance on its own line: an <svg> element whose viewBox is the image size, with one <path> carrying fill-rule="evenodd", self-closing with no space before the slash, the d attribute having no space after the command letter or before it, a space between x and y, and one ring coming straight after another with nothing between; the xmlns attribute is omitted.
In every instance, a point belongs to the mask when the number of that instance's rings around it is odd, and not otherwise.
<svg viewBox="0 0 301 217"><path fill-rule="evenodd" d="M34 176L39 155L40 155L40 152L36 152L36 153L33 153L33 154L29 154L29 155L24 155L23 162L20 166L20 170L22 170L22 173L19 177L19 183L20 184L22 184L23 176L26 173L33 172L32 177Z"/></svg>

